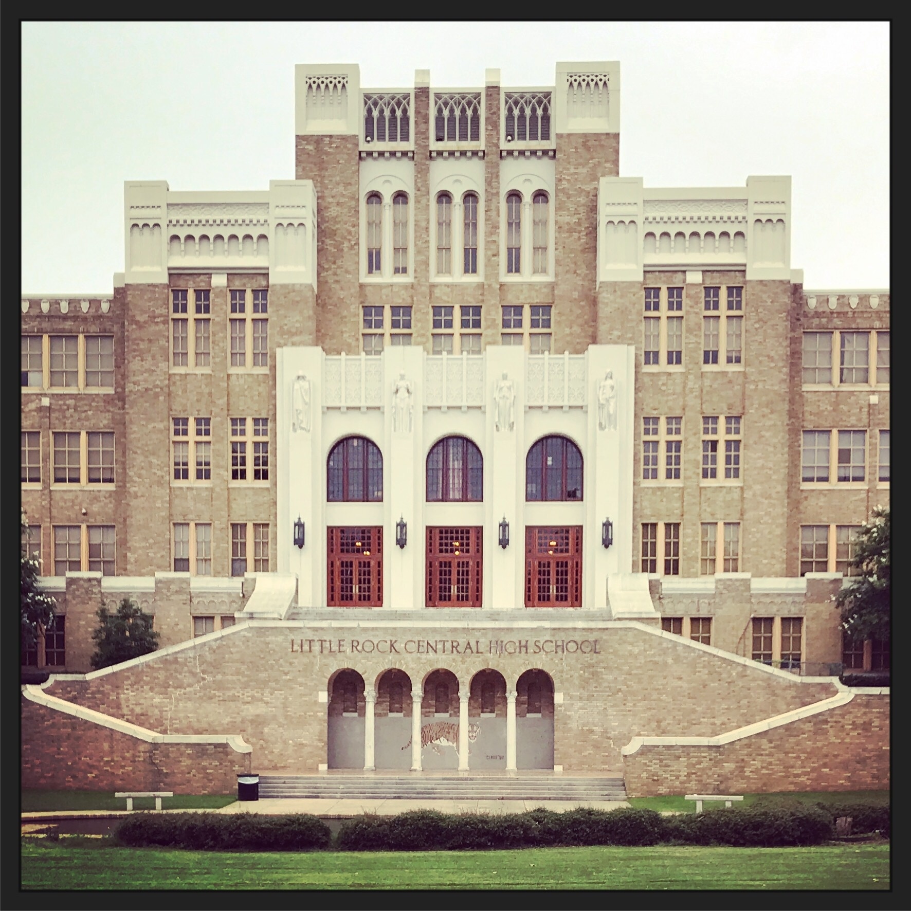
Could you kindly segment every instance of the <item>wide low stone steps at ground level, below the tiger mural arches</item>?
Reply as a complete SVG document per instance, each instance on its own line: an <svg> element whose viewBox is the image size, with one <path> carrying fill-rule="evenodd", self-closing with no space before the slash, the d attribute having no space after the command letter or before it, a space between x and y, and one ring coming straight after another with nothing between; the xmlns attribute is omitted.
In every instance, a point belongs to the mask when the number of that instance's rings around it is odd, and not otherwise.
<svg viewBox="0 0 911 911"><path fill-rule="evenodd" d="M335 800L625 801L622 778L528 775L261 775L260 797Z"/></svg>

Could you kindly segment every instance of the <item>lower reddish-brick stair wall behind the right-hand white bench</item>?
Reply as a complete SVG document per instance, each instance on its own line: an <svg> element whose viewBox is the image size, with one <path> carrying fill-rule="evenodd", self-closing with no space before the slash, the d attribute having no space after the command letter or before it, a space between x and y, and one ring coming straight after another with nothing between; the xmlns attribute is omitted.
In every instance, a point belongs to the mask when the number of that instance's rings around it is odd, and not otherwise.
<svg viewBox="0 0 911 911"><path fill-rule="evenodd" d="M889 697L861 696L723 746L642 746L624 757L630 797L887 788Z"/></svg>

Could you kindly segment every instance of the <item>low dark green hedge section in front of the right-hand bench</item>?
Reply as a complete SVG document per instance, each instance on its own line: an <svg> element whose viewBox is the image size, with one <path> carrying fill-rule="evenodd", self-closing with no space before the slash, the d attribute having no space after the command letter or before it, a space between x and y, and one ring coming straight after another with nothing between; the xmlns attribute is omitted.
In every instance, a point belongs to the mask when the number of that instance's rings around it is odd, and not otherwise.
<svg viewBox="0 0 911 911"><path fill-rule="evenodd" d="M666 820L668 836L685 844L730 844L735 847L777 847L822 844L832 837L829 814L797 804L731 807Z"/></svg>

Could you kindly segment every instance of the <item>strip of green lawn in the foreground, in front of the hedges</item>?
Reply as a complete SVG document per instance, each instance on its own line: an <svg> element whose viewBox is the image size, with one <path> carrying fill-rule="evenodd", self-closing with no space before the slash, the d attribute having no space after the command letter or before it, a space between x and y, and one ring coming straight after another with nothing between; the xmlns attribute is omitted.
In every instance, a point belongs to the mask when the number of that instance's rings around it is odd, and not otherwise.
<svg viewBox="0 0 911 911"><path fill-rule="evenodd" d="M888 844L216 854L22 840L24 889L888 889Z"/></svg>

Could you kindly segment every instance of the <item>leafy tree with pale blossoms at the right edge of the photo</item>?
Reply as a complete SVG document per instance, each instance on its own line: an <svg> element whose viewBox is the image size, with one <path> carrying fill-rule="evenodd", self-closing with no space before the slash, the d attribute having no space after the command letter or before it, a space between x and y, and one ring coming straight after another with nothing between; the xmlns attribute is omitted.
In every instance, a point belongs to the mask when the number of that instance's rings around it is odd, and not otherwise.
<svg viewBox="0 0 911 911"><path fill-rule="evenodd" d="M835 596L842 628L855 641L889 639L891 605L891 517L875 507L858 533L852 566L860 575Z"/></svg>

